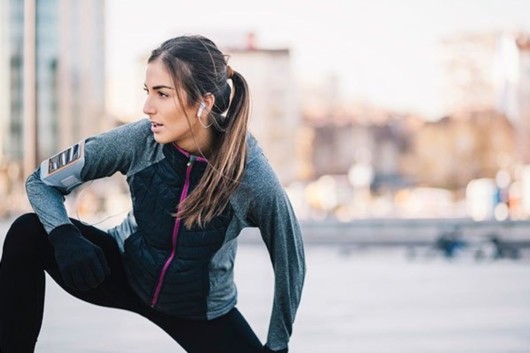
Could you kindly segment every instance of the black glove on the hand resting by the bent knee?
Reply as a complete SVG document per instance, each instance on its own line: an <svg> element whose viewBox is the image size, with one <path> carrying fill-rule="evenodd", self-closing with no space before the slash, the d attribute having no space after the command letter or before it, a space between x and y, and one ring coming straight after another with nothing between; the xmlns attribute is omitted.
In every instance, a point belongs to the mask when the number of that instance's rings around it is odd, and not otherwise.
<svg viewBox="0 0 530 353"><path fill-rule="evenodd" d="M101 248L85 239L73 224L52 230L49 236L64 283L73 289L97 287L110 273Z"/></svg>

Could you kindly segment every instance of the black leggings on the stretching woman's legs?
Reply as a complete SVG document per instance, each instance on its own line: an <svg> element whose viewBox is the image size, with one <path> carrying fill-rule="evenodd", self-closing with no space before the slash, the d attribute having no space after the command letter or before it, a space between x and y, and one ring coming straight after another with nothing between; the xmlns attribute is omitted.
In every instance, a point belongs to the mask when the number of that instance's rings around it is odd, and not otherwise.
<svg viewBox="0 0 530 353"><path fill-rule="evenodd" d="M259 339L235 308L209 321L180 319L151 309L130 288L114 238L95 227L72 221L84 237L101 247L111 274L95 289L75 291L66 287L55 263L53 247L37 216L19 217L6 235L0 262L0 353L34 351L44 310L44 270L68 293L81 300L146 317L187 352L262 351Z"/></svg>

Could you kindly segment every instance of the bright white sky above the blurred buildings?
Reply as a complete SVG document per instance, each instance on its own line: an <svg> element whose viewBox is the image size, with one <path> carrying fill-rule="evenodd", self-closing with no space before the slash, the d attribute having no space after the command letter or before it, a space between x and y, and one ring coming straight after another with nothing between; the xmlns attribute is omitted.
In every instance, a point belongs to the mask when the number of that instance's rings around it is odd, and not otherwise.
<svg viewBox="0 0 530 353"><path fill-rule="evenodd" d="M132 115L141 113L142 102L130 104L142 89L131 87L140 59L184 33L216 41L216 32L253 31L261 46L291 48L296 84L333 74L344 98L433 118L440 39L530 33L530 0L107 0L107 9L109 109Z"/></svg>

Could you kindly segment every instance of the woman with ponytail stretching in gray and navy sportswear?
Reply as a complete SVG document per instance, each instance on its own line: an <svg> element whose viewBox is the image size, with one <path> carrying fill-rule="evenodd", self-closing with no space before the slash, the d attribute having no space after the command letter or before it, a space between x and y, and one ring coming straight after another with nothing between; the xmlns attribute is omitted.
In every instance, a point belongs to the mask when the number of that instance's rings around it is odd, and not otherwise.
<svg viewBox="0 0 530 353"><path fill-rule="evenodd" d="M9 229L0 267L0 352L33 352L44 270L72 295L137 312L187 352L287 352L305 263L284 190L247 133L249 92L215 44L170 39L147 64L148 119L91 137L27 180L35 214ZM120 172L133 209L102 231L69 219L64 195ZM236 239L259 227L275 272L260 343L236 304Z"/></svg>

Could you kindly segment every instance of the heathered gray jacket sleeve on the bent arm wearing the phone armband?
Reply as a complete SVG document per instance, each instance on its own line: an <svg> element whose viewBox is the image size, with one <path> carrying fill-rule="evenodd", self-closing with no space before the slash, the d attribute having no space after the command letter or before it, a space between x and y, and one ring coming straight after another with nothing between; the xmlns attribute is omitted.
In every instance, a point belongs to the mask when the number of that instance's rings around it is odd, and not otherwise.
<svg viewBox="0 0 530 353"><path fill-rule="evenodd" d="M122 125L86 139L84 165L80 171L72 170L77 182L68 189L45 183L41 179L40 167L26 179L29 202L48 234L60 225L71 223L64 206L65 195L86 181L111 176L118 171L123 174L127 172L135 156L131 141L138 143L137 139L142 137L142 131L149 131L148 128L142 129L142 124L145 123L146 121L139 121Z"/></svg>

